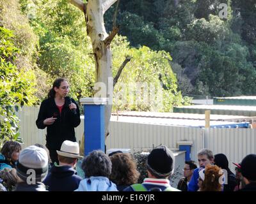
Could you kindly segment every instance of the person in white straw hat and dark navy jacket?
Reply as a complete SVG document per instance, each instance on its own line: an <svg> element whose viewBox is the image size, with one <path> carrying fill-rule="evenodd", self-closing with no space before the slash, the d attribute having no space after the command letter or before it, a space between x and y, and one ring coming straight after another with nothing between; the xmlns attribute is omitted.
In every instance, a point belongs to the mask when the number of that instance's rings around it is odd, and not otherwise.
<svg viewBox="0 0 256 204"><path fill-rule="evenodd" d="M65 140L60 151L56 151L60 164L54 163L51 173L44 180L48 191L74 191L82 180L77 175L74 168L77 164L77 159L83 157L79 155L79 145L77 142Z"/></svg>

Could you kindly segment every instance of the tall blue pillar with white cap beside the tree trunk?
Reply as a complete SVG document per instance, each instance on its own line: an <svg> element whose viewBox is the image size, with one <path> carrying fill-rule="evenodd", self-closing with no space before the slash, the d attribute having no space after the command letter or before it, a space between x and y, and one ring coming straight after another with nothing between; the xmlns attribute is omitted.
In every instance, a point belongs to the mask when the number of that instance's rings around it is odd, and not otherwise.
<svg viewBox="0 0 256 204"><path fill-rule="evenodd" d="M84 156L92 150L105 151L105 105L108 98L81 98L84 106Z"/></svg>

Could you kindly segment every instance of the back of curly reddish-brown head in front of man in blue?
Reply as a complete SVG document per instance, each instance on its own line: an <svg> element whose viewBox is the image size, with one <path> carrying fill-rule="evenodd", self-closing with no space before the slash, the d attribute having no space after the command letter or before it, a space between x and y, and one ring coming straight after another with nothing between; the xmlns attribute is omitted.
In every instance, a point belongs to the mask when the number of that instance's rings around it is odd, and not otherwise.
<svg viewBox="0 0 256 204"><path fill-rule="evenodd" d="M199 171L199 177L203 180L200 191L221 191L223 174L219 166L208 164L205 169Z"/></svg>

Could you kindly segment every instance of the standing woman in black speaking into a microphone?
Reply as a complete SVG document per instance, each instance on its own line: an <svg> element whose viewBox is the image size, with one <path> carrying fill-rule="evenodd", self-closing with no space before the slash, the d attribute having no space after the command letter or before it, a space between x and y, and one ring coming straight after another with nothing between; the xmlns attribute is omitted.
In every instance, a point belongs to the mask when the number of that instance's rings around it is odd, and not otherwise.
<svg viewBox="0 0 256 204"><path fill-rule="evenodd" d="M58 163L56 150L60 150L65 140L76 142L75 129L79 126L79 107L68 95L69 85L65 78L54 81L52 89L40 106L36 126L47 127L46 147L49 149L52 163Z"/></svg>

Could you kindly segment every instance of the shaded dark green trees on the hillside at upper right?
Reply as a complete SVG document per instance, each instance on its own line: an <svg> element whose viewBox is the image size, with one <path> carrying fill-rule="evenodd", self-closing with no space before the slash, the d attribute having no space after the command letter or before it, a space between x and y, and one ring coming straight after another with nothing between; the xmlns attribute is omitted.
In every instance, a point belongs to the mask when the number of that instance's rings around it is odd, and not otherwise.
<svg viewBox="0 0 256 204"><path fill-rule="evenodd" d="M227 19L219 17L221 3L228 6ZM132 46L172 55L182 94L255 94L254 0L120 1L118 12L121 33ZM109 30L112 16L106 13Z"/></svg>

